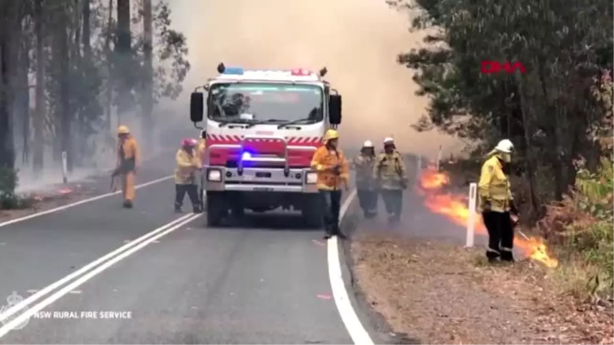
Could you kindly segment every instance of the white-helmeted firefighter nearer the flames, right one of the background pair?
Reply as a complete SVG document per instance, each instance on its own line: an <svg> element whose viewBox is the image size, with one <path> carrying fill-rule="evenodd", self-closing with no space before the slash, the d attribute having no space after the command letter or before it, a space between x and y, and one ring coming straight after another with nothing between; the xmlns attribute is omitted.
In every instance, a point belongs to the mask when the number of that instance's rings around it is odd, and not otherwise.
<svg viewBox="0 0 614 345"><path fill-rule="evenodd" d="M392 138L384 139L384 151L379 153L373 165L373 179L378 182L389 223L400 222L403 190L407 189L408 178L403 157Z"/></svg>

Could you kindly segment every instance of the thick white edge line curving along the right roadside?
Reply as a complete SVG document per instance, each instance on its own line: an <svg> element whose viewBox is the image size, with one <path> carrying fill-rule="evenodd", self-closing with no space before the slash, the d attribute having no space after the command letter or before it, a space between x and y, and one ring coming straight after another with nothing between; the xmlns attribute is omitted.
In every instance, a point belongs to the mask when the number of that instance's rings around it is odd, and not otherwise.
<svg viewBox="0 0 614 345"><path fill-rule="evenodd" d="M346 215L356 195L356 190L352 190L348 198L344 201L339 212L340 219L343 219L344 215ZM337 236L328 239L327 244L328 277L330 278L333 298L335 298L335 304L341 315L341 320L343 320L343 324L348 330L349 336L352 338L355 345L374 345L373 339L371 339L365 327L360 323L356 310L354 310L352 302L349 300L348 290L346 290L343 277L341 276L341 260L339 258L340 248ZM18 323L15 322L15 325L17 324Z"/></svg>

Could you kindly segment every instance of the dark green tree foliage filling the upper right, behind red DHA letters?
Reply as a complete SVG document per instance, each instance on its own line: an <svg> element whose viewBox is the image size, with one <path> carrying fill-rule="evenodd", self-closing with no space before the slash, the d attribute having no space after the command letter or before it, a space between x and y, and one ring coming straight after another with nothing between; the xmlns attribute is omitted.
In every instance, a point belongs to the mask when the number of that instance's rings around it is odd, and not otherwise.
<svg viewBox="0 0 614 345"><path fill-rule="evenodd" d="M398 56L415 71L418 95L430 99L414 128L437 128L487 147L510 139L523 158L534 208L550 201L538 195L560 199L573 184L572 161L579 155L596 165L596 138L612 127L612 112L604 107L612 95L591 97L596 87L608 87L594 77L613 62L611 1L388 3L411 11L412 29L428 29L426 48ZM519 61L527 72L484 74L482 61ZM554 190L544 190L537 171L554 180Z"/></svg>

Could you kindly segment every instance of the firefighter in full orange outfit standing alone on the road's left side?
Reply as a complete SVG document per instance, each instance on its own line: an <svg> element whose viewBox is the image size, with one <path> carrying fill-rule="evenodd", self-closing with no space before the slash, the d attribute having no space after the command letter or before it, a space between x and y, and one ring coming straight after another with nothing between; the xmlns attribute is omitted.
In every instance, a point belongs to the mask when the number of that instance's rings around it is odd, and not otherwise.
<svg viewBox="0 0 614 345"><path fill-rule="evenodd" d="M123 207L132 208L134 200L134 174L141 166L141 153L136 139L127 126L117 128L119 144L117 147L117 165L114 175L122 176Z"/></svg>

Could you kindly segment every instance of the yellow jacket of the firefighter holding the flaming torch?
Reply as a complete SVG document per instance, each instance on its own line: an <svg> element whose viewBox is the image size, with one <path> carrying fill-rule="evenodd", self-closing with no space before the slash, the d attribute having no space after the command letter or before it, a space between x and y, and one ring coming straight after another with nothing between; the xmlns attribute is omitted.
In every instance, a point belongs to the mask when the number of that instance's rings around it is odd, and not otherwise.
<svg viewBox="0 0 614 345"><path fill-rule="evenodd" d="M511 201L513 201L510 180L503 172L503 166L496 155L488 158L482 166L478 195L480 196L480 208L483 208L488 201L491 203L492 211L510 211Z"/></svg>

